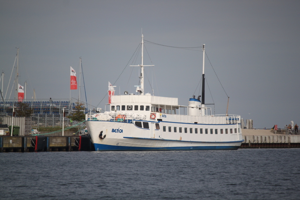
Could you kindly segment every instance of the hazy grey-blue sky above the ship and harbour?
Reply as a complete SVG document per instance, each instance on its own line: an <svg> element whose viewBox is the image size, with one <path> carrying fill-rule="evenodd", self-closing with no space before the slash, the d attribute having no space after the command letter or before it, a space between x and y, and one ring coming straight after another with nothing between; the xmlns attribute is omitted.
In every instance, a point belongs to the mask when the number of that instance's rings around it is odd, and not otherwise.
<svg viewBox="0 0 300 200"><path fill-rule="evenodd" d="M229 97L228 114L252 119L255 128L300 124L299 10L300 1L289 0L0 0L3 92L8 99L19 48L18 81L27 82L28 100L34 89L37 99L78 99L70 66L79 82L81 57L87 102L104 109L108 82L116 94L136 93L139 68L130 65L141 62L143 31L144 40L166 45L145 42L144 65L155 65L145 67L145 93L153 88L182 106L201 95L202 49L168 46L205 44L205 103L214 103L207 105L213 114L226 114Z"/></svg>

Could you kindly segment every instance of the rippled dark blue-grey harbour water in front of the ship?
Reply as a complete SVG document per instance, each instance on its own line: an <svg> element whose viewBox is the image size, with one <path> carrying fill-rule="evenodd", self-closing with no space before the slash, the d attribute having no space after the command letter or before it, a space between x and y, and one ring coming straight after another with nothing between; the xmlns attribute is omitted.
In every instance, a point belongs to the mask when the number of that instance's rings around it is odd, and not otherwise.
<svg viewBox="0 0 300 200"><path fill-rule="evenodd" d="M0 199L299 199L300 149L0 154Z"/></svg>

